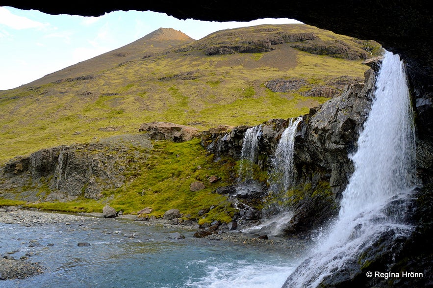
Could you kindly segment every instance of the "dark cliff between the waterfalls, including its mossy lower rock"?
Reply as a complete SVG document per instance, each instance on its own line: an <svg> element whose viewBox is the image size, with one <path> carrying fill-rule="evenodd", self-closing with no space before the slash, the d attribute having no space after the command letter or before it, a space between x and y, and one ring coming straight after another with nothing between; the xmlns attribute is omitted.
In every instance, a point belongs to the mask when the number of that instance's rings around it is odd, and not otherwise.
<svg viewBox="0 0 433 288"><path fill-rule="evenodd" d="M370 61L369 65L376 69L379 60ZM341 95L303 115L295 134L292 184L295 198L300 200L292 204L294 215L285 233L309 231L335 215L341 192L354 171L348 155L357 149L359 131L372 101L374 78L374 69L368 70L365 82L348 85ZM288 125L288 120L272 119L259 126L256 164L262 171L272 166L281 134ZM230 155L239 159L248 128L250 126L204 131L201 143L218 157ZM238 194L237 198L249 198ZM264 201L266 193L261 195Z"/></svg>

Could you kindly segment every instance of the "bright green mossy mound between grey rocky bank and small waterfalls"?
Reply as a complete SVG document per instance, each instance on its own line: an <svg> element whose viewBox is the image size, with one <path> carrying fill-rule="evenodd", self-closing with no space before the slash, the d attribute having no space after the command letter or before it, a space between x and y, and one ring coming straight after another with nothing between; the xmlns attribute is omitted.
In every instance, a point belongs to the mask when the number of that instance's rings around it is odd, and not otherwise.
<svg viewBox="0 0 433 288"><path fill-rule="evenodd" d="M160 217L169 209L179 209L188 219L199 219L201 209L210 209L201 222L220 220L228 222L235 209L225 196L214 193L219 186L232 183L235 162L232 159L213 161L207 155L199 139L183 143L155 141L151 156L140 163L127 178L133 179L125 186L104 192L114 199L110 205L116 210L134 213L145 207L153 208L153 215ZM209 183L212 175L220 180ZM202 182L203 190L193 192L190 185Z"/></svg>

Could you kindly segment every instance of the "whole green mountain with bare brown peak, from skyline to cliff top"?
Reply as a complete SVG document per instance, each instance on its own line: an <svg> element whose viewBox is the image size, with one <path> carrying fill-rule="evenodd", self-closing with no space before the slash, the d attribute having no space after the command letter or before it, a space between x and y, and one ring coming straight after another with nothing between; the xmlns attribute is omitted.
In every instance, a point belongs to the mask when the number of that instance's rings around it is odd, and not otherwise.
<svg viewBox="0 0 433 288"><path fill-rule="evenodd" d="M158 29L1 91L0 162L151 121L204 129L298 116L362 79L362 61L379 47L306 25L223 30L198 41Z"/></svg>

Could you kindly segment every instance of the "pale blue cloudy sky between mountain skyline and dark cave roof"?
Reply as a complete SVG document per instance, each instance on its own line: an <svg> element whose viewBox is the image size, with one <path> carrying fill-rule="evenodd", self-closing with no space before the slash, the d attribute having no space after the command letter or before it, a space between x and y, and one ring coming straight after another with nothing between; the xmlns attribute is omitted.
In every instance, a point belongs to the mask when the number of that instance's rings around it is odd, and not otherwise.
<svg viewBox="0 0 433 288"><path fill-rule="evenodd" d="M288 23L301 22L287 18L222 23L179 20L152 11L114 11L83 17L0 6L0 90L125 46L160 27L174 28L199 40L228 28Z"/></svg>

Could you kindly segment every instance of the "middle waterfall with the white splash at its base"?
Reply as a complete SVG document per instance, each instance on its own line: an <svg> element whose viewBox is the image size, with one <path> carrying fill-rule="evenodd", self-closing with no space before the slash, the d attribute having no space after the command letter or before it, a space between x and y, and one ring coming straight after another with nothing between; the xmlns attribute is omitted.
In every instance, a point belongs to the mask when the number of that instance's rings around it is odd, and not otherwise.
<svg viewBox="0 0 433 288"><path fill-rule="evenodd" d="M295 134L302 117L290 118L289 126L281 134L280 141L275 151L272 161L272 180L270 181L270 192L274 194L277 202L285 201L285 192L290 188L294 178L293 153L295 144ZM264 209L264 218L259 225L251 227L245 232L261 231L268 236L277 236L286 227L286 224L293 216L293 212L284 205L273 204L269 210L271 215L266 215Z"/></svg>

